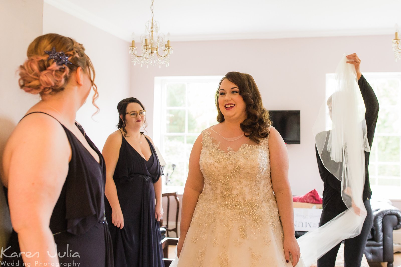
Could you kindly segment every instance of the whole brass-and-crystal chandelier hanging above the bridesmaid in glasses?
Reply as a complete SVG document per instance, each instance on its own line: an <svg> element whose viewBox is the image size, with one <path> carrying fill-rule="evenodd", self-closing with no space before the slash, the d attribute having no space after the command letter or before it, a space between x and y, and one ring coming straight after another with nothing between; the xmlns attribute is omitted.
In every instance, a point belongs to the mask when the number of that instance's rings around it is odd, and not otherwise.
<svg viewBox="0 0 401 267"><path fill-rule="evenodd" d="M163 33L158 34L159 22L153 19L153 2L150 5L152 11L152 20L148 20L145 24L145 33L141 35L141 54L138 55L137 47L135 46L135 36L132 34L132 44L130 46L131 61L134 65L140 64L141 67L146 65L162 65L168 67L170 63L170 55L173 53L173 49L170 46L170 34L167 34L166 42L164 41L165 36Z"/></svg>

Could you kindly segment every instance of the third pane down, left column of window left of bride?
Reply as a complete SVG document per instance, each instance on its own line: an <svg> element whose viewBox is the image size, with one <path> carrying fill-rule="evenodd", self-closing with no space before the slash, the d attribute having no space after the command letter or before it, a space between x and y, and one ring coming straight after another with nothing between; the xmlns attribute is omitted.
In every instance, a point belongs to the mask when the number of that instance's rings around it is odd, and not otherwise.
<svg viewBox="0 0 401 267"><path fill-rule="evenodd" d="M163 146L168 164L186 161L184 136L164 136Z"/></svg>

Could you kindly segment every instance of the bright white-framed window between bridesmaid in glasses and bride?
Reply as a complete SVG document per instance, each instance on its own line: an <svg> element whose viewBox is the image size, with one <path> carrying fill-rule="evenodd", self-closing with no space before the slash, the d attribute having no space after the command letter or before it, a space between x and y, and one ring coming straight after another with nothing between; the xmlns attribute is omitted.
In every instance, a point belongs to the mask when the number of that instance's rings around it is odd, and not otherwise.
<svg viewBox="0 0 401 267"><path fill-rule="evenodd" d="M171 186L184 186L188 176L188 160L196 138L203 129L217 123L215 93L221 78L217 77L215 82L210 82L211 77L205 78L204 82L202 79L184 78L176 82L175 78L162 83L165 91L160 105L166 114L166 124L154 127L162 130L162 150L167 163L164 173L166 176L168 174L168 185Z"/></svg>

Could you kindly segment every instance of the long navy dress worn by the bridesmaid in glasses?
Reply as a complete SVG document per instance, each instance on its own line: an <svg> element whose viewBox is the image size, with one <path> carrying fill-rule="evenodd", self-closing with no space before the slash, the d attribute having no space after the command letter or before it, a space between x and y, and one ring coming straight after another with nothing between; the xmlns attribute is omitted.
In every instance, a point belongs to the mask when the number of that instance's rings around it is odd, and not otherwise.
<svg viewBox="0 0 401 267"><path fill-rule="evenodd" d="M153 187L163 171L152 143L146 140L152 152L148 161L122 136L113 180L124 216L123 229L111 223L111 207L105 200L116 267L164 267Z"/></svg>

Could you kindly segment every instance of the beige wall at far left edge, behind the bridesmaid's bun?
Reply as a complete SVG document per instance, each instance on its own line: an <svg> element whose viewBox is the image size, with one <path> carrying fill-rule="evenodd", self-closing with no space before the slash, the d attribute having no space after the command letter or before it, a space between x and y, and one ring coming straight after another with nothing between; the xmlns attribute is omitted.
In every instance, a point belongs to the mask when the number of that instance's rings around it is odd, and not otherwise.
<svg viewBox="0 0 401 267"><path fill-rule="evenodd" d="M2 1L0 8L0 168L4 145L15 125L38 97L22 91L16 70L26 58L32 40L42 34L43 0ZM0 248L12 230L6 199L0 182ZM0 255L0 260L2 255Z"/></svg>

